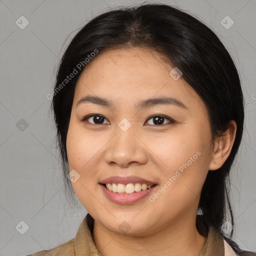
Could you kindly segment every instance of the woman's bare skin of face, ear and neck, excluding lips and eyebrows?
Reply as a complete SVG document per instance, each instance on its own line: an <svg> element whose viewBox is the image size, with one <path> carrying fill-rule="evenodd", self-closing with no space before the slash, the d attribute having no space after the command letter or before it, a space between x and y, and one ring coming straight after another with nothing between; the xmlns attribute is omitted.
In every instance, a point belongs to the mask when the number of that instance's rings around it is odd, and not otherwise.
<svg viewBox="0 0 256 256"><path fill-rule="evenodd" d="M205 104L182 79L174 80L173 66L147 48L100 52L80 75L73 98L66 148L69 170L80 177L72 183L81 204L94 218L93 240L103 256L199 255L206 237L195 227L199 196L208 170L219 168L228 157L236 130L212 142ZM112 100L114 107L86 102L86 95ZM158 104L140 111L134 104L147 98L171 96L186 108ZM97 113L105 117L95 124ZM157 125L153 114L174 119ZM127 131L118 123L126 118ZM120 205L109 200L98 182L106 177L137 175L155 181L156 192L196 152L201 154L184 169L155 201L148 196ZM153 192L153 193L155 193ZM152 194L149 194L149 196ZM124 234L118 226L126 221Z"/></svg>

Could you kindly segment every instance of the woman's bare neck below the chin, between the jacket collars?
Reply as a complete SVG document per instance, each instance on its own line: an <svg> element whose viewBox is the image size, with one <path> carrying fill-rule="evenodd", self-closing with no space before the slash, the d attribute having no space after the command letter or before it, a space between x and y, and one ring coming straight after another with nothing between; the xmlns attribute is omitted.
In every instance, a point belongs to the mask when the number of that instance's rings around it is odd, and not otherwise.
<svg viewBox="0 0 256 256"><path fill-rule="evenodd" d="M94 220L92 236L102 256L198 256L206 240L198 233L195 221L188 220L172 222L155 233L142 236L118 234Z"/></svg>

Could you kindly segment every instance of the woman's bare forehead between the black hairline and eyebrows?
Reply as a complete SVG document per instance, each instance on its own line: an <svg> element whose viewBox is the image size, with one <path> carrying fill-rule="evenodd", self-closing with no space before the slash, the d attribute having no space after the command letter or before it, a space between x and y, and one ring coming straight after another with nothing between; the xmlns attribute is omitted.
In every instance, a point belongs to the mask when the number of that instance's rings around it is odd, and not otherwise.
<svg viewBox="0 0 256 256"><path fill-rule="evenodd" d="M162 55L148 48L99 52L77 81L74 103L87 94L111 98L117 104L163 95L190 105L201 101L182 76L177 80L170 76L173 68Z"/></svg>

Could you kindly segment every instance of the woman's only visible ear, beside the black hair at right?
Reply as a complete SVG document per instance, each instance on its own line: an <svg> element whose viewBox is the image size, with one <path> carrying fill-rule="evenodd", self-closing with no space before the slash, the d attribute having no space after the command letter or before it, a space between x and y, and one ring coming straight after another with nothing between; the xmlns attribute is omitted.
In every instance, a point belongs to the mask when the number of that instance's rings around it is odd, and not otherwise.
<svg viewBox="0 0 256 256"><path fill-rule="evenodd" d="M235 133L236 123L234 120L231 120L227 130L218 136L214 142L214 149L209 162L209 170L218 169L223 165L232 149Z"/></svg>

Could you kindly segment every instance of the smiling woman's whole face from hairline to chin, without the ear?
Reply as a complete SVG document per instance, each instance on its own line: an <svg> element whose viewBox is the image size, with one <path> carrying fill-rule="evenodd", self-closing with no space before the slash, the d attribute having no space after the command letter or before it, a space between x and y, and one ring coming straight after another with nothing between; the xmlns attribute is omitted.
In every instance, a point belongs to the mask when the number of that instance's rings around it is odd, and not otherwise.
<svg viewBox="0 0 256 256"><path fill-rule="evenodd" d="M195 220L212 161L210 125L173 68L146 48L115 49L98 53L77 81L66 139L72 186L114 232L142 235Z"/></svg>

